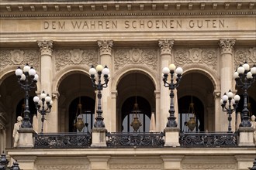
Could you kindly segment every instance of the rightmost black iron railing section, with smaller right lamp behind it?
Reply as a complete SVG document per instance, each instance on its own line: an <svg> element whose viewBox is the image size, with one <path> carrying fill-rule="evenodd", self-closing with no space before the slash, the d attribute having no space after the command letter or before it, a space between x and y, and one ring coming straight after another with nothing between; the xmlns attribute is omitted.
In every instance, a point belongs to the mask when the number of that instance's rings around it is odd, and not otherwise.
<svg viewBox="0 0 256 170"><path fill-rule="evenodd" d="M237 133L223 132L187 132L180 134L179 138L181 147L188 148L220 148L236 147Z"/></svg>

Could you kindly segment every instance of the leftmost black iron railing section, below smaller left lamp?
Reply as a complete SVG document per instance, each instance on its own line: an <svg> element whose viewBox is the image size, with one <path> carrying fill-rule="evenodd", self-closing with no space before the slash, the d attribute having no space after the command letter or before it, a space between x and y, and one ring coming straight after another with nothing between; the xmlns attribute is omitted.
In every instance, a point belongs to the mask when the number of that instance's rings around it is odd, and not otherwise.
<svg viewBox="0 0 256 170"><path fill-rule="evenodd" d="M88 148L90 133L35 134L35 148Z"/></svg>

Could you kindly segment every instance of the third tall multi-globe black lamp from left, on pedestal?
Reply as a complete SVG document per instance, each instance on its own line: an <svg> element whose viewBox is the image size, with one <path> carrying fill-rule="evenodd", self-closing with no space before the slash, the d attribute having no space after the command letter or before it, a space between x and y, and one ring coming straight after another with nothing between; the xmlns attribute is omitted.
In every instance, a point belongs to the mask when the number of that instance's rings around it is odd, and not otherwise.
<svg viewBox="0 0 256 170"><path fill-rule="evenodd" d="M162 72L164 73L164 77L163 77L163 81L164 81L164 87L169 87L169 90L171 90L170 93L170 97L171 97L171 105L170 105L170 116L168 117L168 122L167 122L167 127L177 127L178 124L175 121L176 117L175 117L175 107L174 107L174 92L173 90L175 90L175 88L178 87L180 80L182 79L182 67L177 67L175 64L170 64L169 68L168 67L164 67ZM171 82L168 83L168 73L171 74ZM176 81L176 83L175 83Z"/></svg>

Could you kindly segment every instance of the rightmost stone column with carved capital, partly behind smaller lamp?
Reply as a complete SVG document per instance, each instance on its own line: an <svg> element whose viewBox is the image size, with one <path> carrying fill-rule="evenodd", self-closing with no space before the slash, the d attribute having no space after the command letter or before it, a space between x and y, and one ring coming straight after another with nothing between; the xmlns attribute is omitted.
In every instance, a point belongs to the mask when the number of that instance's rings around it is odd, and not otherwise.
<svg viewBox="0 0 256 170"><path fill-rule="evenodd" d="M221 97L224 93L227 93L232 89L233 82L233 46L235 39L220 39L219 46L221 48L220 53L220 82L221 82ZM220 131L227 131L228 121L227 113L223 113L221 107L219 109L220 119ZM235 130L235 114L232 115L232 131Z"/></svg>

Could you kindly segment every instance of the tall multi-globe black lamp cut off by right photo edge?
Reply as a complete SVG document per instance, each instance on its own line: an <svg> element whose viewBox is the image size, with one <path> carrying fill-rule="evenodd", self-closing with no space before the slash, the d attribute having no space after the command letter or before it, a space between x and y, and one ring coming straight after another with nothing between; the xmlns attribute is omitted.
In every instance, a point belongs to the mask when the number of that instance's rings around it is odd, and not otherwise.
<svg viewBox="0 0 256 170"><path fill-rule="evenodd" d="M242 122L240 127L251 127L251 122L248 117L248 105L247 105L247 90L251 87L251 84L256 80L256 65L254 65L251 70L249 64L244 62L243 65L237 68L234 73L234 80L236 80L237 87L241 87L244 90L244 109L242 110Z"/></svg>

